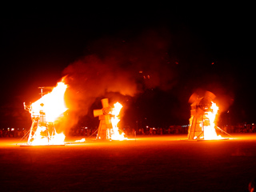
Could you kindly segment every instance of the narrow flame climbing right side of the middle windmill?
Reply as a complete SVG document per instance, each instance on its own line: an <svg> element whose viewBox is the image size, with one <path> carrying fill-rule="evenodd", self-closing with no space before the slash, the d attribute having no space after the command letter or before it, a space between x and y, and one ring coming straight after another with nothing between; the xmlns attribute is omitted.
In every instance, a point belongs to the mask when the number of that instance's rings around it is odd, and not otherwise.
<svg viewBox="0 0 256 192"><path fill-rule="evenodd" d="M124 133L120 133L119 129L118 129L118 122L120 121L118 115L120 114L120 111L122 109L122 104L119 102L116 102L114 104L114 108L111 111L111 114L113 114L113 117L111 118L111 122L112 122L112 127L113 127L113 133L111 134L111 139L112 140L125 140L127 139L124 136Z"/></svg>

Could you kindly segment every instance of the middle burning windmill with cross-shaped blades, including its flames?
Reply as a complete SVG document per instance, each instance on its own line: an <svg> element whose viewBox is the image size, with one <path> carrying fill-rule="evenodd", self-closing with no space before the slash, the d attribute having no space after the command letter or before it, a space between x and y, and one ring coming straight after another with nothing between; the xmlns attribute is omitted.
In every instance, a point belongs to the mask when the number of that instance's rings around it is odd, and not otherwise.
<svg viewBox="0 0 256 192"><path fill-rule="evenodd" d="M119 102L116 102L114 108L111 108L108 98L102 99L102 109L94 110L94 117L98 117L100 120L96 139L127 139L125 138L124 133L120 133L118 129L118 122L120 121L118 115L121 109L122 105Z"/></svg>

